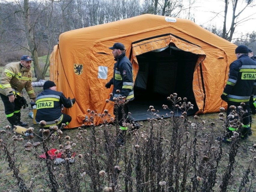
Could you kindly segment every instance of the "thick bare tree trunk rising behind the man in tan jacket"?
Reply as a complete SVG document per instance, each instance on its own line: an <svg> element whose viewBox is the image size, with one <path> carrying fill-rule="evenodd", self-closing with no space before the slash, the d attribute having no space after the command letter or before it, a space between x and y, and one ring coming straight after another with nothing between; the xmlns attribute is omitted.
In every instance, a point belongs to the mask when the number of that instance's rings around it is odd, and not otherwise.
<svg viewBox="0 0 256 192"><path fill-rule="evenodd" d="M34 44L33 37L31 35L31 27L29 25L29 0L24 0L23 20L24 20L24 26L25 26L26 38L27 38L28 45L29 45L29 50L32 54L32 58L34 59L33 63L34 63L37 80L44 79L43 72L42 72L42 70L39 66L39 62L38 62L37 49Z"/></svg>

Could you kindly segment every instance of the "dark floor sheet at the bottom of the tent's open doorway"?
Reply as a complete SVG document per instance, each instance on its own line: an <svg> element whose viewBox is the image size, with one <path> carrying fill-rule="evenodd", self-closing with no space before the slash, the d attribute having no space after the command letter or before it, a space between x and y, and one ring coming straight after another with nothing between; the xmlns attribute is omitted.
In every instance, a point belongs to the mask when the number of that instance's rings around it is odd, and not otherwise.
<svg viewBox="0 0 256 192"><path fill-rule="evenodd" d="M133 117L134 121L142 121L147 120L148 118L152 118L151 111L148 111L149 106L154 106L154 113L157 113L160 115L163 115L164 118L170 117L170 110L169 109L163 109L162 105L168 105L169 108L171 108L171 103L167 101L167 99L162 100L151 100L151 101L142 101L142 100L133 100L129 102L130 105L130 113L131 117ZM194 105L195 106L195 105ZM157 112L158 110L158 112ZM187 115L193 115L198 111L197 107L194 107L193 110L188 110ZM175 116L180 116L181 113L180 109L178 111L175 111ZM168 116L166 116L166 113Z"/></svg>

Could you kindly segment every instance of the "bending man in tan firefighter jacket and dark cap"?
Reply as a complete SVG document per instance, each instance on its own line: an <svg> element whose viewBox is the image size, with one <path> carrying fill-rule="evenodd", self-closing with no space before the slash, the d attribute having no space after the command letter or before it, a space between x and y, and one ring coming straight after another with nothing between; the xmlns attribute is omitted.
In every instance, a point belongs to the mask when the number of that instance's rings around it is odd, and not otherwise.
<svg viewBox="0 0 256 192"><path fill-rule="evenodd" d="M32 58L23 55L19 62L12 62L5 66L0 79L0 96L5 106L7 120L14 125L28 126L20 120L20 109L28 106L22 90L26 89L29 98L35 101L35 92L31 85L30 71Z"/></svg>

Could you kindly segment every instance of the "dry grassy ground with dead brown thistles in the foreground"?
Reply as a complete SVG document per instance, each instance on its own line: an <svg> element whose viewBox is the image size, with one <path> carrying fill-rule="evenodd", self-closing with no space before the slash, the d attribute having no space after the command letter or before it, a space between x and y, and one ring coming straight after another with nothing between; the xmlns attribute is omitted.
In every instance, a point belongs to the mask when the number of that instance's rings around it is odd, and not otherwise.
<svg viewBox="0 0 256 192"><path fill-rule="evenodd" d="M35 88L36 93L41 90ZM25 98L29 101L26 94ZM170 105L167 100L166 104ZM5 130L8 121L2 102L0 111L0 130ZM33 125L28 117L30 111L30 108L21 110L22 120L38 134L40 127ZM0 150L0 191L211 191L211 188L225 191L220 185L230 166L230 149L236 146L216 141L224 127L218 113L201 114L198 119L190 116L161 120L151 115L150 120L140 122L143 126L139 131L126 136L125 147L116 144L118 130L114 124L62 130L62 135L50 135L49 139L35 136L15 140L13 133L0 134L10 153L8 158L6 151ZM249 166L248 180L245 179L241 191L255 191L255 178L251 182L256 164L251 161L255 155L252 151L256 130L253 130L254 135L249 139L235 143L238 151L227 191L239 191ZM41 145L26 151L24 145L28 142ZM63 150L63 155L68 157L75 152L74 164L56 166L51 160L38 158L50 148L60 150L60 145L71 146L72 149ZM204 160L204 156L208 159ZM14 163L10 169L11 160ZM14 168L18 169L16 176ZM19 187L18 181L23 185Z"/></svg>

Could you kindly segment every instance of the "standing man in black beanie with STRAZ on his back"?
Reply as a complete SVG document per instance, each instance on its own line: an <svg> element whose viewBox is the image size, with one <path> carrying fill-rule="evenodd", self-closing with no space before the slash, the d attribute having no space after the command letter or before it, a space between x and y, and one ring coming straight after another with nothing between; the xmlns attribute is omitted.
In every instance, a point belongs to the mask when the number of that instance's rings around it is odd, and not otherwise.
<svg viewBox="0 0 256 192"><path fill-rule="evenodd" d="M227 118L228 120L238 119L237 116L229 116L233 109L230 109L231 105L236 107L236 111L247 111L242 115L242 130L241 138L247 138L250 130L250 97L253 93L254 86L256 85L256 63L248 56L248 48L244 45L239 45L236 50L237 60L233 61L229 67L229 75L227 84L224 88L221 99L227 102ZM241 103L245 103L242 108L238 107ZM230 143L230 137L233 135L233 131L237 131L237 128L229 125L227 127L228 134L223 138L223 142Z"/></svg>

